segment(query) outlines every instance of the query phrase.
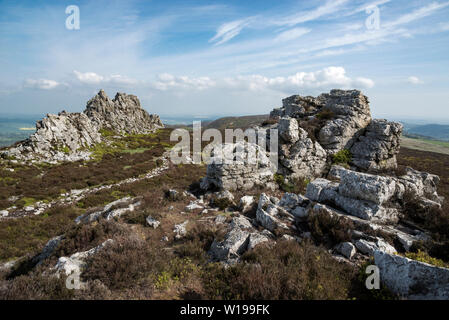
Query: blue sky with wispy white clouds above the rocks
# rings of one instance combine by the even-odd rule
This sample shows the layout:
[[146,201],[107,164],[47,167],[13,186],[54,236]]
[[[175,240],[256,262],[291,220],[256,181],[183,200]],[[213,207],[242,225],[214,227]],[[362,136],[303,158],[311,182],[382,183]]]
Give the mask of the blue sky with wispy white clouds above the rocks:
[[0,1],[0,113],[103,88],[161,115],[262,114],[357,88],[376,117],[449,123],[448,53],[447,0]]

